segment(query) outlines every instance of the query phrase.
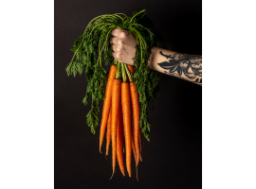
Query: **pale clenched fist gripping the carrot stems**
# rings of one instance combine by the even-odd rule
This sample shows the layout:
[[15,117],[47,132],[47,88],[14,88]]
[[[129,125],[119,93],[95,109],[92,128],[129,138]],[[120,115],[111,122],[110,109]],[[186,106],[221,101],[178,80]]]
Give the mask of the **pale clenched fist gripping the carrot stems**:
[[133,58],[136,56],[137,39],[135,34],[131,31],[123,29],[113,29],[112,35],[114,36],[110,43],[112,43],[112,53],[115,60],[121,63],[134,64]]

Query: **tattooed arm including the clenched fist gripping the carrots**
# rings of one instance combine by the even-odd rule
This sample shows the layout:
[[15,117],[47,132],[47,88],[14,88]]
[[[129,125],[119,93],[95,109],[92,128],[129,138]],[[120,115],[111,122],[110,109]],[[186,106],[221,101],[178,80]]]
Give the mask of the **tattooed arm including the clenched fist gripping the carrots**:
[[[119,62],[133,65],[137,44],[135,35],[119,28],[113,29],[112,35],[113,57]],[[158,72],[203,85],[202,55],[182,54],[154,46],[148,63],[151,69]]]

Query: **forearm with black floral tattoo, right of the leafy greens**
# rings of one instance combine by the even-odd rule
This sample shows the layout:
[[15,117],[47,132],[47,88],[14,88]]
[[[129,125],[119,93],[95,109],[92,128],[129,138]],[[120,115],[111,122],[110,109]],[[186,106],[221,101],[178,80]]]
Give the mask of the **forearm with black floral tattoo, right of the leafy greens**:
[[157,72],[203,85],[202,55],[177,53],[154,46],[148,64]]

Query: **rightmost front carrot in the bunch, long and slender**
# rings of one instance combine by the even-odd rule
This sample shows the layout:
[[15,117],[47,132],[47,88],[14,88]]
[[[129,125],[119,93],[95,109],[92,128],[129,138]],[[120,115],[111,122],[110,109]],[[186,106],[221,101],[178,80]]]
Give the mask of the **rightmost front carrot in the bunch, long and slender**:
[[136,91],[136,86],[134,82],[130,82],[131,88],[131,99],[132,99],[132,107],[133,107],[133,118],[134,118],[134,142],[136,148],[136,166],[139,161],[139,102],[138,95]]

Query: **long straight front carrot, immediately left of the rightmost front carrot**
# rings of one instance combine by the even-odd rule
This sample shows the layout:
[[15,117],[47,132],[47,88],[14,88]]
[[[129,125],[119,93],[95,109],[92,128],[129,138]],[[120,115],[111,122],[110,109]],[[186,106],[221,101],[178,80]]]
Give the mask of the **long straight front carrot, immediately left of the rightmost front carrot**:
[[123,126],[125,133],[126,168],[131,177],[132,174],[132,130],[131,130],[131,94],[128,82],[121,83],[121,106],[123,112]]

